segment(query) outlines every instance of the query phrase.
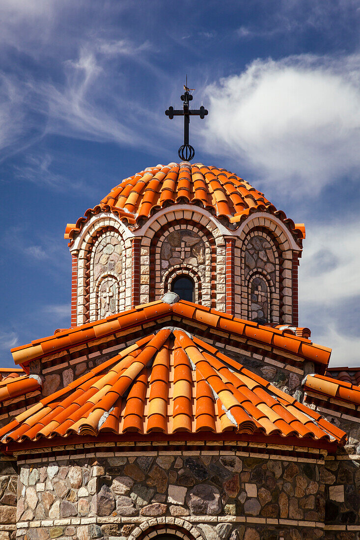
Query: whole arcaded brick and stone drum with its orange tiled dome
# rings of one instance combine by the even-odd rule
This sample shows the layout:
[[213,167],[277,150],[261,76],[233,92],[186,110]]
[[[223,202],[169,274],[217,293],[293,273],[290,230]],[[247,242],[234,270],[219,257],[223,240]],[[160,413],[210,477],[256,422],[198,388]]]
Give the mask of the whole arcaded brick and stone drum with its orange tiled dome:
[[65,237],[72,326],[158,300],[179,276],[196,303],[266,324],[297,324],[301,225],[229,171],[149,167],[122,181]]

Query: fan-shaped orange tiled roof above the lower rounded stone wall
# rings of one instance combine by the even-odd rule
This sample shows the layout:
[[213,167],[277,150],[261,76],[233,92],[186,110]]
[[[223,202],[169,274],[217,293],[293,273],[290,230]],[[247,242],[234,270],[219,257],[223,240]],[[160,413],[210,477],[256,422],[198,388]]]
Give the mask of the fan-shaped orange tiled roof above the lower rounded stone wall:
[[[163,327],[44,397],[0,430],[3,444],[52,437],[222,434],[344,443],[294,397],[184,330]],[[286,440],[284,441],[286,444]]]

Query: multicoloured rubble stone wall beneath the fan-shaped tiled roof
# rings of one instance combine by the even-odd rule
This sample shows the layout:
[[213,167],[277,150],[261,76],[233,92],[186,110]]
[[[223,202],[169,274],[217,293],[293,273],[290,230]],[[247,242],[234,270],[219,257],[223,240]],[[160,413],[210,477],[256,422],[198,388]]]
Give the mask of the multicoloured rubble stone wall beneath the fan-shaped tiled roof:
[[357,538],[358,461],[279,447],[108,450],[20,460],[17,538],[132,540],[158,524],[204,540]]

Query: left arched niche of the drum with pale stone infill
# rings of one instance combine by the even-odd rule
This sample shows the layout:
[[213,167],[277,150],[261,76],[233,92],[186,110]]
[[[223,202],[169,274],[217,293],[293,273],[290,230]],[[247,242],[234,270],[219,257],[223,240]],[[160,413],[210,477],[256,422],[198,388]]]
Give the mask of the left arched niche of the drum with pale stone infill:
[[[75,276],[73,266],[72,282],[77,284],[74,323],[72,319],[74,326],[101,318],[99,313],[102,310],[98,307],[97,295],[103,292],[100,283],[103,284],[106,275],[111,275],[112,279],[118,282],[118,308],[131,307],[131,281],[124,278],[129,265],[131,271],[130,239],[124,239],[123,231],[115,219],[99,219],[82,239],[77,255],[77,275]],[[110,284],[108,286],[110,287]],[[111,291],[108,291],[108,298],[111,298]],[[74,290],[72,302],[74,302]],[[114,302],[111,305],[114,305]]]

